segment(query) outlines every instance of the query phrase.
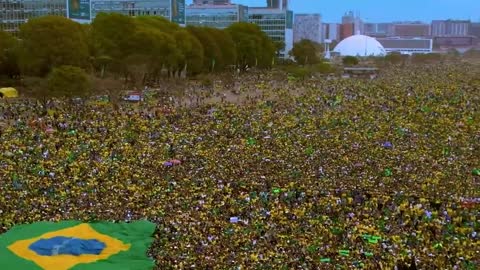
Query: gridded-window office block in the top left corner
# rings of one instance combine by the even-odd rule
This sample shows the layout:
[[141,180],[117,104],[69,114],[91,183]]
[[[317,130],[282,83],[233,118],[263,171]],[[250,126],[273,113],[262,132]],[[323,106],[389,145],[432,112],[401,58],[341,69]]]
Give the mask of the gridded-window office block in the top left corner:
[[16,33],[27,20],[46,16],[67,16],[65,0],[0,0],[0,30]]

